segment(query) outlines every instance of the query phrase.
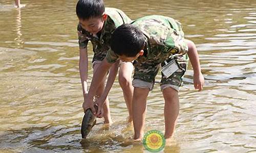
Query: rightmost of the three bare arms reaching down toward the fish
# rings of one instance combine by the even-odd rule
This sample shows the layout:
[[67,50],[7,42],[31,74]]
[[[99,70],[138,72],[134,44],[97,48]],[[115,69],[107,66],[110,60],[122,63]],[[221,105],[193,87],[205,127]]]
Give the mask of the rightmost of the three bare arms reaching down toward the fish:
[[96,104],[98,104],[98,111],[97,111],[96,116],[100,116],[100,114],[103,113],[101,111],[101,109],[102,109],[102,106],[104,104],[104,101],[105,101],[106,97],[108,96],[108,94],[110,92],[110,89],[111,89],[112,85],[115,82],[116,75],[117,75],[117,72],[118,72],[118,68],[119,68],[119,60],[116,61],[114,63],[114,65],[111,66],[108,81],[106,82],[104,92],[96,101]]

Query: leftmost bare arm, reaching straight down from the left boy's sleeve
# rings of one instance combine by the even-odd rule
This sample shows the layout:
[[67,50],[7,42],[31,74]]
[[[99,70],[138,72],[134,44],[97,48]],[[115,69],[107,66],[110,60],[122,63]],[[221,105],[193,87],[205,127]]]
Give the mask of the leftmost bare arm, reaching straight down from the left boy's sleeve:
[[88,53],[87,47],[79,49],[79,73],[82,84],[83,98],[86,97],[87,93],[87,79],[88,79]]

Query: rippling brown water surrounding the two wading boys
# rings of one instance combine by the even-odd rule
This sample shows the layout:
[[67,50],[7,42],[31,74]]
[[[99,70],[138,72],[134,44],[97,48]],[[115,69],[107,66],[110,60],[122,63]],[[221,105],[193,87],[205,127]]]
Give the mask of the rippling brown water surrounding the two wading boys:
[[[145,3],[146,2],[146,3]],[[114,124],[81,141],[75,1],[0,2],[0,152],[147,152],[130,142],[119,84],[109,95]],[[132,19],[161,14],[183,23],[198,47],[205,87],[191,66],[180,91],[174,142],[164,152],[256,152],[256,1],[105,1]],[[90,58],[92,47],[89,46]],[[90,68],[90,76],[92,77]],[[158,75],[158,80],[160,79]],[[148,96],[145,131],[164,131],[163,98]],[[101,123],[102,120],[99,121]]]

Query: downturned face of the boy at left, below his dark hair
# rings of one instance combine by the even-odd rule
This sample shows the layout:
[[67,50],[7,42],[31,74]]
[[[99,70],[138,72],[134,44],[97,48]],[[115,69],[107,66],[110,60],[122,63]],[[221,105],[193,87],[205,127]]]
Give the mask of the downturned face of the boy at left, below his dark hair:
[[79,19],[79,22],[83,29],[95,35],[101,31],[107,17],[108,16],[106,14],[103,14],[101,17],[93,17],[86,20]]

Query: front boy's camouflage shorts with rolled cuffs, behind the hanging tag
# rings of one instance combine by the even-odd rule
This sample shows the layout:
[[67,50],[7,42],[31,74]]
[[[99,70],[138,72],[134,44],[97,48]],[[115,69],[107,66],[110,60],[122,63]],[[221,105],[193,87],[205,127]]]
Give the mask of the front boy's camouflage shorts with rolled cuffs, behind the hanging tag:
[[[185,58],[186,58],[185,61],[179,61],[179,59],[172,59],[178,63],[179,69],[175,71],[172,75],[170,75],[170,77],[165,78],[164,75],[161,73],[162,75],[161,82],[160,82],[161,90],[167,87],[171,87],[179,91],[179,88],[183,84],[183,77],[187,69],[187,63],[188,63],[187,55]],[[161,67],[161,64],[152,64],[150,62],[135,64],[133,86],[140,87],[140,88],[149,88],[150,90],[152,90],[153,85],[155,83],[155,77],[160,67]],[[139,82],[138,80],[141,80],[141,82]],[[147,84],[147,83],[151,83],[151,84]]]

